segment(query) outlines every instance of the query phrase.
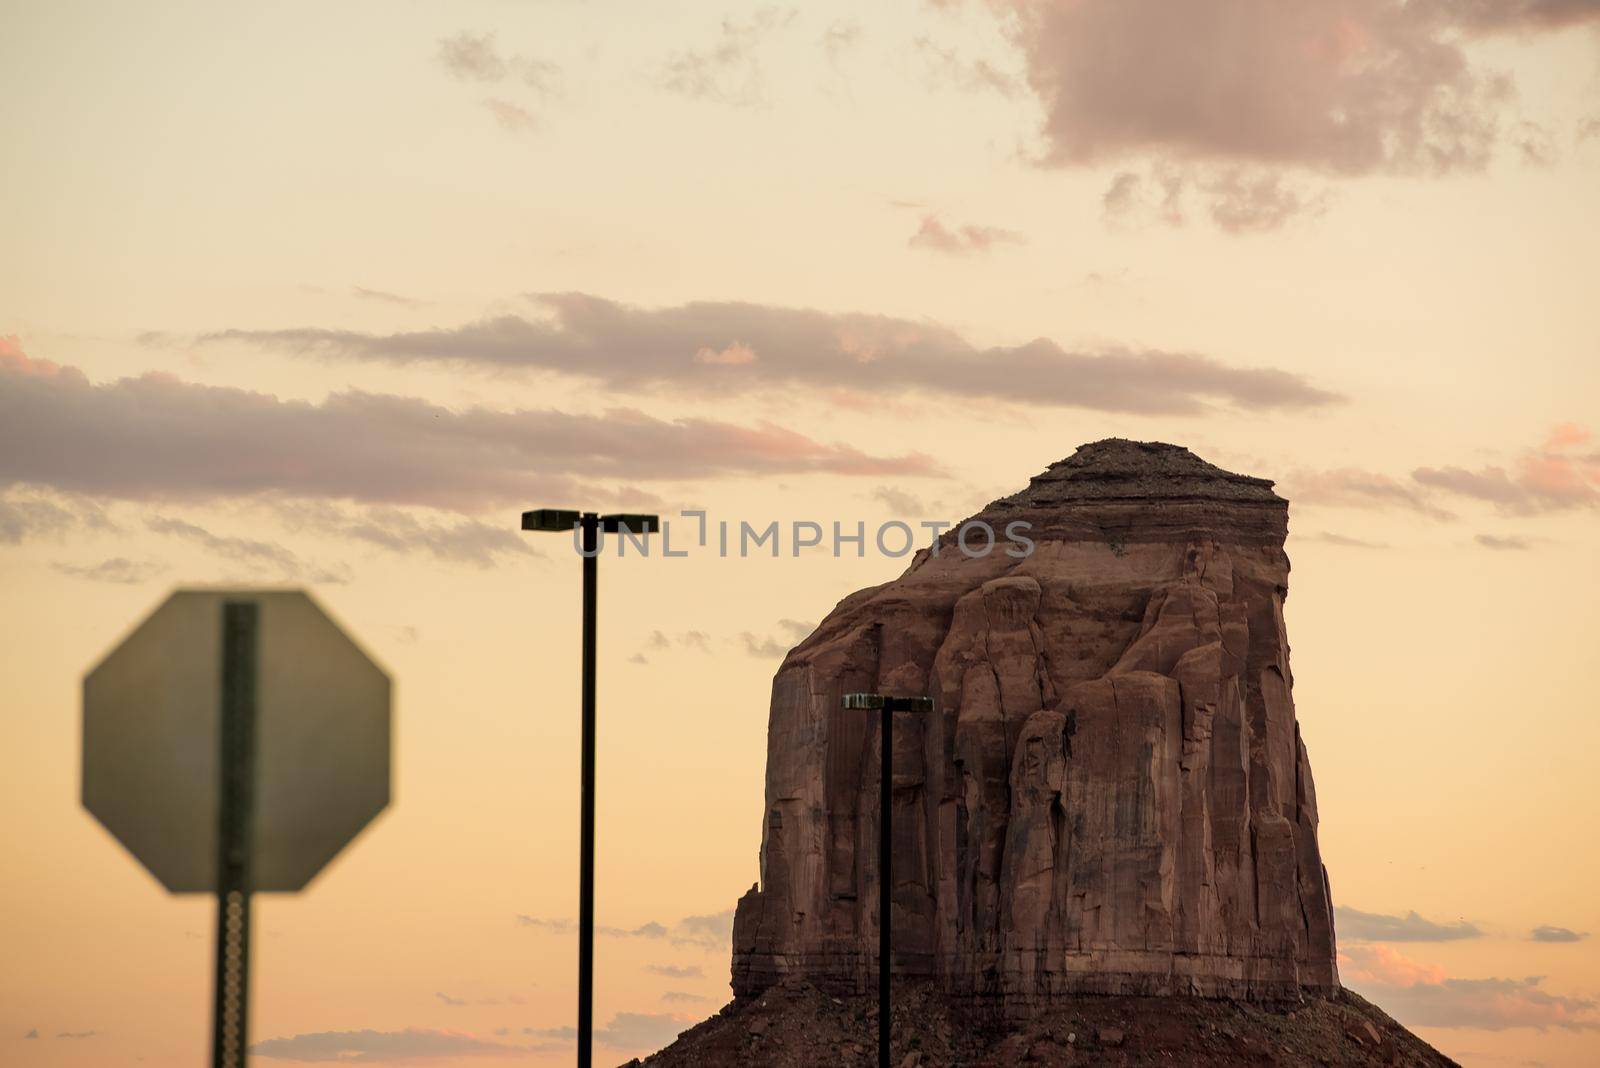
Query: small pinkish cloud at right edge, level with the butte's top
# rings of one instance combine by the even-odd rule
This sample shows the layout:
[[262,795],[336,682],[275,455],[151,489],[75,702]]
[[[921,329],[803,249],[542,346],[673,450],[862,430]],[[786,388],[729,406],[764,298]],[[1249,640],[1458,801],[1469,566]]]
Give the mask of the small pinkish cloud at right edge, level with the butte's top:
[[1560,424],[1510,467],[1419,467],[1411,478],[1443,492],[1485,500],[1509,515],[1594,508],[1600,505],[1600,452],[1584,451],[1589,441],[1584,427]]

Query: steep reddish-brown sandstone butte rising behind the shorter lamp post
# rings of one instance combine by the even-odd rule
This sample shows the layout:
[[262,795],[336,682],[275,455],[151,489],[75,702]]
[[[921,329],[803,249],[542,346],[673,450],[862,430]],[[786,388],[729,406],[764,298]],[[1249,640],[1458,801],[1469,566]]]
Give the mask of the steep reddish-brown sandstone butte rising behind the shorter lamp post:
[[1112,438],[974,518],[1030,523],[1035,550],[971,558],[947,532],[778,670],[734,993],[875,982],[878,727],[840,710],[854,691],[936,700],[894,723],[898,975],[1008,1015],[1338,990],[1290,695],[1288,502]]

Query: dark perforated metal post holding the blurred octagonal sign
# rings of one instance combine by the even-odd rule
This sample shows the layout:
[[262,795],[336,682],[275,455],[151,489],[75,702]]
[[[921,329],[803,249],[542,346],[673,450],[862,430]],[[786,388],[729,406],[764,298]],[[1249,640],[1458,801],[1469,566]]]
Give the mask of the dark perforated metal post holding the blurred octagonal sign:
[[256,785],[258,622],[259,609],[253,601],[222,604],[213,1068],[243,1068],[250,1042],[250,830]]

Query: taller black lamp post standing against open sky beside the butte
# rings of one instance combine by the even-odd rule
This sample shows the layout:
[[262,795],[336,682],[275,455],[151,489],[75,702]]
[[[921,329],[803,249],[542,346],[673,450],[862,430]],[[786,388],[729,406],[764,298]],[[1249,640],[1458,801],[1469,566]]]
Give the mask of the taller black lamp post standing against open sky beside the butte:
[[[595,590],[598,584],[600,532],[654,534],[661,520],[653,515],[598,515],[565,508],[536,508],[522,513],[522,529],[541,532],[578,531],[584,558],[584,667],[582,742],[579,756],[578,831],[578,1068],[594,1060],[595,1014]],[[576,540],[576,539],[574,539]]]

